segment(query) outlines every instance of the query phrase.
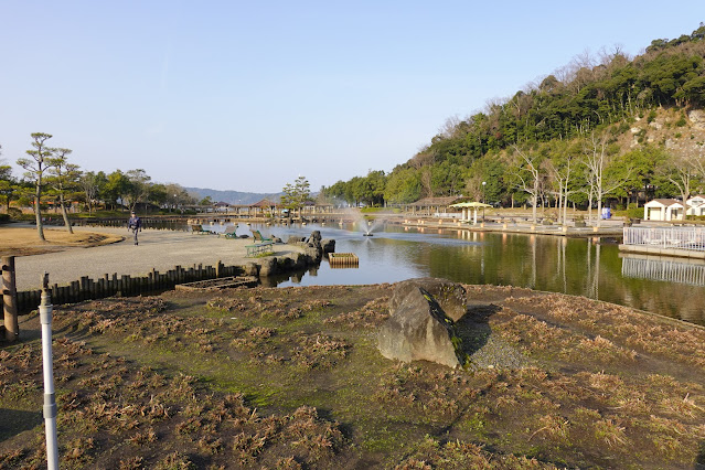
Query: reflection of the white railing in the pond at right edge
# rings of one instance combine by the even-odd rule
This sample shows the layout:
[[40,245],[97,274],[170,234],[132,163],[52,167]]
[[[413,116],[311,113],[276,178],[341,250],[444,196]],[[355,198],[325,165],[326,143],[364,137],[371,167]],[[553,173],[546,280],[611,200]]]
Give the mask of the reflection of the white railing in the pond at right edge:
[[622,258],[622,276],[705,286],[705,265],[654,258]]

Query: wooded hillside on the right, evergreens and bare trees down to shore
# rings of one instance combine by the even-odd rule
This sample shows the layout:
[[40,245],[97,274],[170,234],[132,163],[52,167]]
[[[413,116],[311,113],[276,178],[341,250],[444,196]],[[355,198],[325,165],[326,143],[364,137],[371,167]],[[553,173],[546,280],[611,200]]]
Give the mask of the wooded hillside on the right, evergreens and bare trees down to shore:
[[[606,197],[628,205],[640,191],[683,196],[702,190],[703,142],[681,133],[687,133],[685,110],[705,107],[704,39],[701,23],[692,34],[652,41],[634,58],[619,49],[578,56],[511,98],[448,119],[428,146],[388,174],[371,170],[324,186],[322,194],[368,205],[462,194],[502,205],[557,205],[560,197],[564,207],[567,197],[591,207]],[[620,150],[620,136],[634,122],[651,122],[666,108],[680,110],[672,125],[684,143],[667,147],[638,135],[638,148]],[[592,164],[595,142],[602,142],[600,168]],[[590,181],[607,177],[620,181],[596,193]]]

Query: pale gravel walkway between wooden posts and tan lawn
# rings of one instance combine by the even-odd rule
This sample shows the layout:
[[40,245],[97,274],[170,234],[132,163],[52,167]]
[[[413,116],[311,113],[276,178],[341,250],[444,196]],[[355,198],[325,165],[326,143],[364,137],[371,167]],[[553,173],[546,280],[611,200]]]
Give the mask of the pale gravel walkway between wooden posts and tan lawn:
[[[114,233],[125,241],[93,248],[67,248],[44,255],[19,256],[14,259],[18,290],[41,288],[42,275],[49,273],[51,285],[60,286],[88,276],[93,279],[104,274],[146,275],[152,268],[160,273],[174,266],[190,267],[202,264],[239,266],[252,261],[246,257],[246,245],[253,239],[227,239],[215,235],[193,235],[189,232],[143,229],[139,245],[135,246],[131,233],[126,228],[74,227],[74,231]],[[275,256],[298,250],[291,245],[275,245]]]

